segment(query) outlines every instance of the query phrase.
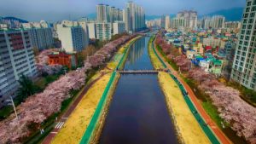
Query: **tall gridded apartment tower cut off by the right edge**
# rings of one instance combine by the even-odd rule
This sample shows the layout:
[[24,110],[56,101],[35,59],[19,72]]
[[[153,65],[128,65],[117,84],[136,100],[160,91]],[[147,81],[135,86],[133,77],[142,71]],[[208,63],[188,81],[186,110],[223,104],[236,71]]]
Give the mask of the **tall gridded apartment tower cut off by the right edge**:
[[243,10],[231,79],[256,90],[256,0],[247,0]]

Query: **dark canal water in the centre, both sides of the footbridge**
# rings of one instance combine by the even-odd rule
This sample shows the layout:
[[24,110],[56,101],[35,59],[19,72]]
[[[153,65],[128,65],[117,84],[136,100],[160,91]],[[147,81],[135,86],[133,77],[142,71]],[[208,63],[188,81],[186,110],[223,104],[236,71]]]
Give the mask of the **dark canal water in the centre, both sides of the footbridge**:
[[[153,69],[149,37],[131,45],[125,70]],[[101,144],[176,144],[177,135],[157,75],[125,74],[113,94]]]

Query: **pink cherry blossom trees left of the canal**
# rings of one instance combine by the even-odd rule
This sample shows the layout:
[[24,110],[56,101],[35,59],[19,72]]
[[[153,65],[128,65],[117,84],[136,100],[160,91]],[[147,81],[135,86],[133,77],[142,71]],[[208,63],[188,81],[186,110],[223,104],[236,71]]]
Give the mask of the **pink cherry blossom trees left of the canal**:
[[[49,116],[61,111],[62,101],[73,96],[70,95],[71,90],[82,88],[86,78],[85,72],[90,71],[93,67],[103,65],[120,45],[135,36],[123,36],[107,43],[94,55],[84,60],[83,67],[61,76],[61,78],[49,84],[42,93],[28,97],[25,102],[17,107],[18,120],[12,114],[9,118],[0,122],[0,143],[20,143],[23,138],[31,135],[34,132],[33,130],[38,130],[41,123]],[[47,66],[47,55],[51,52],[46,50],[38,55],[37,66],[39,71],[53,73],[60,68],[58,65]]]

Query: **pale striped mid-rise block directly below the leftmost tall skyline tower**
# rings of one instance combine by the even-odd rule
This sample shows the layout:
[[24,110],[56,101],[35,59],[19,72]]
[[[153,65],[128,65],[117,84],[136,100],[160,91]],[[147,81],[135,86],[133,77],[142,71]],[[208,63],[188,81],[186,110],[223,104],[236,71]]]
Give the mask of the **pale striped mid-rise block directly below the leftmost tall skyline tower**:
[[110,40],[112,37],[111,23],[96,23],[96,38],[99,40]]

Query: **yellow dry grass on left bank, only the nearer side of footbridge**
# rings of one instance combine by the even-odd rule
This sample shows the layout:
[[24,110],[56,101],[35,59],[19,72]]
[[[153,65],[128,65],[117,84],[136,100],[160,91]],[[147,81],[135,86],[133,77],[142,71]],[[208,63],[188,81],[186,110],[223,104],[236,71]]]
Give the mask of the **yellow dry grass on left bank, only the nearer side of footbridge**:
[[108,84],[110,76],[111,73],[106,74],[96,84],[91,86],[59,133],[55,135],[52,141],[53,144],[79,143],[90,123],[90,119],[96,110],[96,106],[102,96],[103,90]]

